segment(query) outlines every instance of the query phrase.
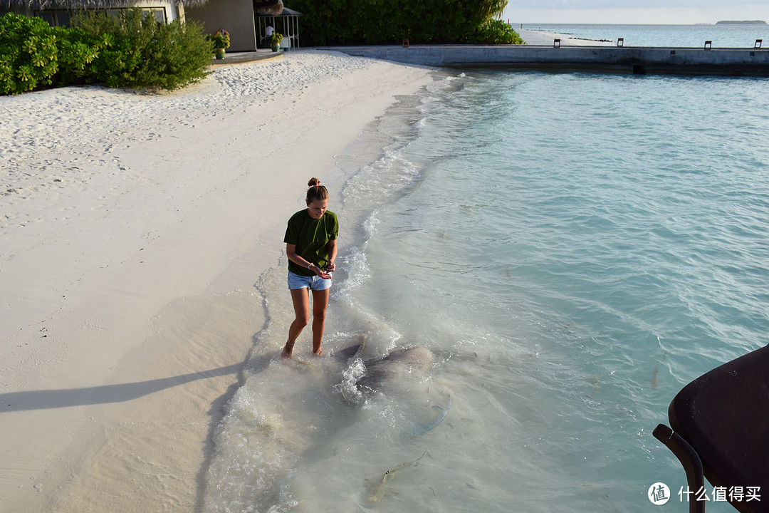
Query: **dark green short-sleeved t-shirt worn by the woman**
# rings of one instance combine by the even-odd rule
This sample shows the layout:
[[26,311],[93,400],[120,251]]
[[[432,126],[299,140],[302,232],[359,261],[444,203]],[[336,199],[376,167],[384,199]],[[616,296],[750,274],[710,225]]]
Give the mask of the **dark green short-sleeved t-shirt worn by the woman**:
[[[328,264],[328,241],[335,241],[338,235],[339,220],[334,212],[327,210],[320,219],[314,219],[305,208],[288,220],[283,242],[295,245],[301,258],[322,269]],[[315,272],[291,260],[288,270],[301,276],[315,276]]]

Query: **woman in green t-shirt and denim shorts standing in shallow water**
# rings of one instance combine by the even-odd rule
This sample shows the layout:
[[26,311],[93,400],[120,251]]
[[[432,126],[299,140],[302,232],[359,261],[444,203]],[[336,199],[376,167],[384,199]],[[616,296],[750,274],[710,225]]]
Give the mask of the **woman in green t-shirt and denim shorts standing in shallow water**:
[[321,355],[328,289],[331,272],[336,268],[339,221],[334,212],[327,210],[328,190],[320,183],[318,178],[308,182],[307,208],[291,216],[283,239],[288,256],[288,289],[296,317],[288,328],[283,358],[291,358],[296,338],[310,321],[309,291],[312,291],[312,352]]

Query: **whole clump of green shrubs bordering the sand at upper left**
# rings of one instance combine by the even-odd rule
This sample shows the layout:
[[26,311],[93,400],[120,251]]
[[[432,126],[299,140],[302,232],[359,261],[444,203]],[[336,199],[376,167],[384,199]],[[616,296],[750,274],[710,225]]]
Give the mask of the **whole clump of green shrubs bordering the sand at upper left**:
[[198,23],[158,23],[139,8],[118,18],[87,13],[72,28],[0,17],[0,93],[70,84],[175,89],[208,75],[211,43]]

